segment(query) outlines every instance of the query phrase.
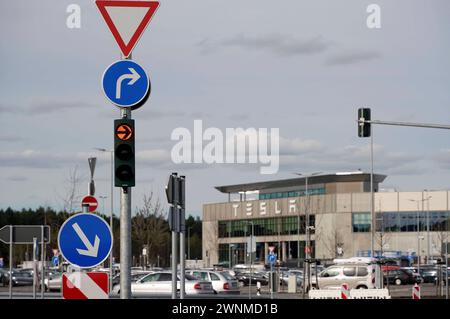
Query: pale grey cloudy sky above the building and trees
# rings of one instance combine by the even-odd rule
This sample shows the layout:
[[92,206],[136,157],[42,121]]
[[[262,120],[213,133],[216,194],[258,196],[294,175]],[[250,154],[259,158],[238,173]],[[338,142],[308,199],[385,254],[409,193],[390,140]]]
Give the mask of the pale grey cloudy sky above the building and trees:
[[[81,28],[66,8],[81,7]],[[381,29],[366,25],[381,7]],[[133,112],[133,206],[168,174],[187,176],[187,211],[225,201],[213,187],[290,178],[293,172],[368,170],[369,139],[357,108],[374,119],[450,124],[447,0],[162,0],[133,59],[147,70],[149,101]],[[0,3],[0,208],[62,207],[68,178],[87,192],[98,158],[97,196],[110,196],[112,123],[119,110],[100,81],[119,50],[93,0]],[[280,170],[172,163],[177,127],[279,128]],[[449,189],[449,131],[377,126],[375,171],[383,187]],[[118,192],[115,193],[118,198]],[[108,212],[109,198],[100,210]],[[118,201],[115,203],[118,212]]]

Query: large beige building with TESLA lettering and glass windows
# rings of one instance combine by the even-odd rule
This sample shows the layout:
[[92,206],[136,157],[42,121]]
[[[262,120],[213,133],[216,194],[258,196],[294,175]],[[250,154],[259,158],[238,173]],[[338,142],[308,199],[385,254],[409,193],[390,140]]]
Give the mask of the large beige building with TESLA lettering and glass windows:
[[370,174],[360,171],[218,186],[227,201],[203,205],[204,263],[249,263],[252,250],[252,262],[265,264],[270,249],[294,266],[306,250],[322,260],[370,256],[372,243],[374,255],[441,256],[450,191],[380,191],[385,178],[373,175],[374,229]]

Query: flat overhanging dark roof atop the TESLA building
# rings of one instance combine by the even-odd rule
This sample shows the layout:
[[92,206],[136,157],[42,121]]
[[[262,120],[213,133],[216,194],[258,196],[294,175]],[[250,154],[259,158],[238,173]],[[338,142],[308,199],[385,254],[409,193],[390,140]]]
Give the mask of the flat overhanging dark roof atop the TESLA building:
[[[386,177],[387,175],[373,174],[373,181],[374,183],[382,183]],[[256,183],[216,186],[215,188],[222,193],[239,193],[272,188],[303,186],[305,185],[305,179],[305,177],[297,177]],[[370,174],[364,172],[349,172],[308,177],[308,185],[337,182],[370,182]]]

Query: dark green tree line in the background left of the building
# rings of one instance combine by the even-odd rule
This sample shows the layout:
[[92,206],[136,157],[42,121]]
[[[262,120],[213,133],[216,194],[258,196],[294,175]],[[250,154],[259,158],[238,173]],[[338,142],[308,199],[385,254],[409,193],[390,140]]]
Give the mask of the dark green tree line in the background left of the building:
[[[168,267],[171,254],[171,233],[167,222],[167,209],[153,194],[144,196],[142,207],[135,209],[132,216],[132,256],[133,265]],[[12,208],[0,209],[0,228],[5,225],[49,225],[50,244],[46,245],[46,260],[53,256],[53,249],[58,249],[58,232],[61,225],[73,214],[66,211],[56,211],[51,207],[37,209],[14,210]],[[110,216],[99,214],[109,224]],[[187,238],[189,229],[190,238]],[[120,261],[120,221],[113,217],[113,257]],[[190,252],[191,259],[202,258],[202,223],[199,217],[189,216],[186,219],[186,254]],[[190,249],[188,248],[188,245]],[[146,248],[147,257],[142,256]],[[9,265],[9,245],[0,243],[0,258],[3,258],[5,267]],[[32,260],[32,245],[17,244],[13,248],[13,267],[23,261]]]

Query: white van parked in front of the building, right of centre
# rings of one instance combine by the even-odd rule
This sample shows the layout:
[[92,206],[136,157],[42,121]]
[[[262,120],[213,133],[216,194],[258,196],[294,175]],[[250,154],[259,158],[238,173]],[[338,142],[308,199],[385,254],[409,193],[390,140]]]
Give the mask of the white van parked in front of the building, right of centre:
[[337,264],[311,277],[311,285],[318,289],[340,289],[343,283],[349,289],[375,288],[375,265],[365,263]]

